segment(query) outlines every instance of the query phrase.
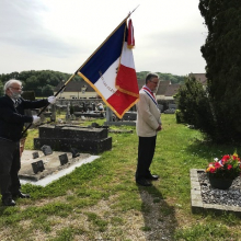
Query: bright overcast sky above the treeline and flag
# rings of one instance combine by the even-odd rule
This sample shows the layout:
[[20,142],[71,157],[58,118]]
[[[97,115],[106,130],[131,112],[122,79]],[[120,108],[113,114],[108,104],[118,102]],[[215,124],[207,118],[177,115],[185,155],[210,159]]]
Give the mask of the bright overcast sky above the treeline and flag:
[[136,71],[205,72],[199,0],[0,0],[0,73],[73,73],[131,12]]

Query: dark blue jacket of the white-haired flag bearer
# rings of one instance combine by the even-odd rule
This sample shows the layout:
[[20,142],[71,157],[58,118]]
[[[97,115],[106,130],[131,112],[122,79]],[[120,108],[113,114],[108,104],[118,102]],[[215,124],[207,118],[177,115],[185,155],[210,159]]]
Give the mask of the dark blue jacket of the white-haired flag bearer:
[[41,108],[48,104],[47,100],[26,101],[18,99],[15,106],[8,95],[0,97],[0,138],[19,141],[23,131],[24,123],[32,123],[33,117],[24,115],[26,108]]

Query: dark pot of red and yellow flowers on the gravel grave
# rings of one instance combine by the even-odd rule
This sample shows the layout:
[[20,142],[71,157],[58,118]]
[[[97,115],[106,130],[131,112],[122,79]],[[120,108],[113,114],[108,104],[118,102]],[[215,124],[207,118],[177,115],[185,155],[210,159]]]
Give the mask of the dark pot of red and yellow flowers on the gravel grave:
[[241,162],[239,156],[225,154],[221,160],[214,159],[206,169],[210,185],[219,190],[228,190],[234,179],[241,174]]

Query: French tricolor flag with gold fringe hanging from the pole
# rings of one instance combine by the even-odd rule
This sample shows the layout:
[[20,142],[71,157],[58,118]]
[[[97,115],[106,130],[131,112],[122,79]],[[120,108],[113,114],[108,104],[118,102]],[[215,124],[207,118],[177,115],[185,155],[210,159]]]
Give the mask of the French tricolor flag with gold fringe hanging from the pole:
[[139,100],[133,50],[127,47],[133,33],[125,19],[77,71],[118,118]]

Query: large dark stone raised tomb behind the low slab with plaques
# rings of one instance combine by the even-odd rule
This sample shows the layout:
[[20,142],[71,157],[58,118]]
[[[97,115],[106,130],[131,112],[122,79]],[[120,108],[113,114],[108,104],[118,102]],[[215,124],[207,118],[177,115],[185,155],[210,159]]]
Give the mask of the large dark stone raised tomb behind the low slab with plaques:
[[76,148],[93,154],[112,149],[112,137],[107,136],[107,128],[43,125],[38,130],[38,138],[34,138],[36,150],[43,145],[51,146],[55,151],[70,151]]

